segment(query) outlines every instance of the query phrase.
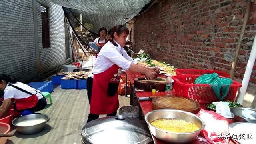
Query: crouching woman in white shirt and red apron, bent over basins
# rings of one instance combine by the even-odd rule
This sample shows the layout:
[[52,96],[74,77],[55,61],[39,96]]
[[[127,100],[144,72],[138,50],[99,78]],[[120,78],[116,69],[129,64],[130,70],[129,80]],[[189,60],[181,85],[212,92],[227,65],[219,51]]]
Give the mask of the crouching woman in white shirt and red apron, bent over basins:
[[[37,112],[45,108],[46,99],[39,90],[18,82],[13,76],[0,74],[0,90],[4,90],[4,102],[0,107],[0,116],[14,104],[14,110]],[[13,103],[15,102],[15,103]]]

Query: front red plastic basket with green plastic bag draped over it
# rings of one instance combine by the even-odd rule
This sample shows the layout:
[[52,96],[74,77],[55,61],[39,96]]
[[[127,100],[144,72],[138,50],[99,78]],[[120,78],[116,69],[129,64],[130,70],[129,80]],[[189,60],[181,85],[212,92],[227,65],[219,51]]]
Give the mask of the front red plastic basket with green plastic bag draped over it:
[[[200,104],[218,101],[217,96],[209,84],[194,84],[196,78],[198,76],[172,76],[176,95],[190,98]],[[224,100],[234,101],[236,92],[241,86],[242,84],[233,80],[233,84],[230,85],[228,94]]]

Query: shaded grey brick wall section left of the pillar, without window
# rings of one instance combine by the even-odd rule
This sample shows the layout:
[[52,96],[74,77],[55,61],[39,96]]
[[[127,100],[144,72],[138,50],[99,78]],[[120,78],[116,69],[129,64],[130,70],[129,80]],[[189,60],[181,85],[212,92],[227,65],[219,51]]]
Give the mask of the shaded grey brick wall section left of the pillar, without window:
[[0,0],[0,73],[35,77],[32,0]]

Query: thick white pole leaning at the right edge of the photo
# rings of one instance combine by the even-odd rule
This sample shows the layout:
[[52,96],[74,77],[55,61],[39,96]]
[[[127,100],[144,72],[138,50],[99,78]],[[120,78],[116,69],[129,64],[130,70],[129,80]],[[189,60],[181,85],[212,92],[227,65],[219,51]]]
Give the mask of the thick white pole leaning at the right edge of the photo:
[[245,70],[245,73],[244,73],[244,78],[243,78],[243,81],[242,81],[242,88],[240,88],[240,91],[238,92],[237,103],[239,103],[239,104],[243,104],[243,102],[244,102],[244,96],[246,94],[246,90],[247,90],[247,87],[248,87],[250,76],[252,74],[252,69],[253,69],[255,59],[256,59],[256,35],[254,36],[254,41],[253,41],[253,44],[252,44],[252,50],[251,50],[250,57],[249,57],[249,60],[247,62],[246,70]]

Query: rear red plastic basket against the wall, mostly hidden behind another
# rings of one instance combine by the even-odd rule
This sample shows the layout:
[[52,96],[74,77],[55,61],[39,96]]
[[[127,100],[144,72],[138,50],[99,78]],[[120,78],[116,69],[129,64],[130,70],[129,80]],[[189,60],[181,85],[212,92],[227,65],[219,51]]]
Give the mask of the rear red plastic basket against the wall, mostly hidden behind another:
[[193,69],[175,69],[175,72],[177,73],[177,76],[186,76],[186,75],[203,75],[203,74],[212,74],[212,73],[217,73],[219,76],[223,76],[226,78],[229,78],[230,75],[221,72],[218,70],[193,70]]

